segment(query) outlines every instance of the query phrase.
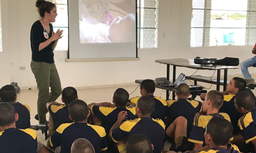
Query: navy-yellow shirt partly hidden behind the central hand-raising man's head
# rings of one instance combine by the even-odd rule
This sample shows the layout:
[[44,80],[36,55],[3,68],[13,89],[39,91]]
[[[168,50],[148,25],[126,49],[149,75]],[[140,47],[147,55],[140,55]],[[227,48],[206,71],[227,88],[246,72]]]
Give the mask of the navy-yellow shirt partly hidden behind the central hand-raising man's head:
[[[166,101],[162,98],[155,97],[153,95],[150,95],[148,97],[153,98],[155,101],[155,109],[154,109],[153,113],[151,114],[151,117],[154,119],[159,118],[164,122],[165,117],[167,116],[167,109],[168,109]],[[139,98],[140,97],[131,98],[129,100],[129,102],[136,104]]]

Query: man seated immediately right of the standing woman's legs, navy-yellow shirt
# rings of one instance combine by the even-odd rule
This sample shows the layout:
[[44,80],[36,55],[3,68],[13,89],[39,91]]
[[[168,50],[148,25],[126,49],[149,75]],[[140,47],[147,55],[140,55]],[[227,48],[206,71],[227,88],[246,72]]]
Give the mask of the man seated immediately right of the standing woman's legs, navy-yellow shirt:
[[61,101],[64,104],[57,102],[48,102],[46,104],[46,108],[49,111],[49,137],[61,124],[73,122],[73,120],[69,118],[68,107],[73,100],[78,99],[77,91],[73,87],[66,87],[62,90],[61,96]]

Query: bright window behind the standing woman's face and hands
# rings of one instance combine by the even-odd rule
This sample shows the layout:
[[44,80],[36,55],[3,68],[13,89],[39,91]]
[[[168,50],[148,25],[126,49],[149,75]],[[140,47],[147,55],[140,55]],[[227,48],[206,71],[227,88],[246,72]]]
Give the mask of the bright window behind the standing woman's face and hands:
[[68,50],[68,0],[53,0],[57,6],[58,16],[53,22],[53,30],[63,30],[63,37],[59,39],[55,50]]

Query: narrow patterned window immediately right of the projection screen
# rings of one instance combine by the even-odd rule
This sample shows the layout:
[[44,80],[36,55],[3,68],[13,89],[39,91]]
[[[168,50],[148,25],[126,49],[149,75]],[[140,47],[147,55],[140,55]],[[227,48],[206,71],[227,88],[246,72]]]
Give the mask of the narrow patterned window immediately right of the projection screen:
[[157,48],[159,0],[137,0],[138,48]]

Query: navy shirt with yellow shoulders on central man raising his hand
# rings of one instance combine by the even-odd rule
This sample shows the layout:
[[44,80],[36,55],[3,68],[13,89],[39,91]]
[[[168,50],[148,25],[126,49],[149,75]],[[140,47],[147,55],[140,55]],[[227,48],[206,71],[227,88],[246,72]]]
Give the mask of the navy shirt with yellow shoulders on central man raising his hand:
[[165,136],[165,124],[160,119],[141,117],[135,120],[123,122],[119,128],[113,130],[111,136],[115,142],[120,141],[124,136],[128,139],[133,134],[147,136],[154,145],[154,153],[161,153],[162,142]]

